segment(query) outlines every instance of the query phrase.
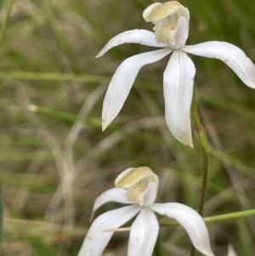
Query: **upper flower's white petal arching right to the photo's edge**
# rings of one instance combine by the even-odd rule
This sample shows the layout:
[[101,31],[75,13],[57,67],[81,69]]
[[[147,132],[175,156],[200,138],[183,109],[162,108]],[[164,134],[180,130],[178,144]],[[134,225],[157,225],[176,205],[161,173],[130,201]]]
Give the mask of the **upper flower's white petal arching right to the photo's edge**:
[[186,45],[185,52],[224,61],[246,86],[255,88],[255,66],[241,48],[226,42],[206,42]]

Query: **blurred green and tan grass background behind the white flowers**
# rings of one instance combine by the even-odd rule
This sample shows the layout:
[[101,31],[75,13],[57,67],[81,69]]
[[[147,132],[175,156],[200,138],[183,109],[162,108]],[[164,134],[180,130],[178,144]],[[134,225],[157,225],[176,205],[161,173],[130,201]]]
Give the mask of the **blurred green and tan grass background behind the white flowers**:
[[[196,135],[194,149],[181,145],[164,119],[162,73],[169,57],[139,72],[120,115],[101,133],[102,102],[116,67],[152,48],[124,44],[94,57],[122,31],[151,31],[142,12],[153,2],[0,1],[1,255],[77,255],[94,199],[129,167],[146,165],[156,172],[157,202],[198,208]],[[255,1],[181,3],[191,15],[187,44],[227,41],[255,62]],[[219,60],[190,57],[211,152],[205,216],[255,208],[255,91]],[[108,203],[97,214],[116,207]],[[216,255],[227,255],[229,243],[238,255],[255,254],[254,216],[207,227]],[[160,238],[162,255],[189,254],[191,243],[181,227],[162,227]],[[113,236],[107,255],[126,255],[127,239],[128,233]]]

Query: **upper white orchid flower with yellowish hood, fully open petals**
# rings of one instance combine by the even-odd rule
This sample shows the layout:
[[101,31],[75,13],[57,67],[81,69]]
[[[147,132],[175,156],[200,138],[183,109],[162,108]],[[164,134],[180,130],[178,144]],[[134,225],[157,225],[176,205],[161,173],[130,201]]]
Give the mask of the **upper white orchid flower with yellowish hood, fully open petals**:
[[130,57],[117,68],[105,94],[102,130],[121,111],[140,68],[172,53],[163,77],[167,126],[176,139],[192,147],[190,105],[195,65],[187,53],[224,61],[251,88],[255,88],[255,67],[241,48],[230,43],[212,41],[185,46],[189,36],[190,12],[177,1],[153,3],[144,10],[143,16],[145,21],[154,23],[154,33],[146,30],[122,32],[97,55],[98,58],[122,43],[161,48]]

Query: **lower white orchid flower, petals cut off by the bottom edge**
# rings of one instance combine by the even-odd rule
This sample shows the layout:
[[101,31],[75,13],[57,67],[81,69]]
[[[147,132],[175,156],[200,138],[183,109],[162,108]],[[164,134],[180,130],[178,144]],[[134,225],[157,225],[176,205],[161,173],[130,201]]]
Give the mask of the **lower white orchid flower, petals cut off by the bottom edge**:
[[116,188],[105,191],[94,202],[93,214],[106,202],[131,203],[99,215],[88,230],[78,256],[100,256],[114,231],[139,215],[130,229],[127,256],[150,256],[156,243],[159,224],[156,213],[176,219],[190,236],[194,247],[213,256],[207,226],[194,209],[178,202],[155,203],[158,177],[148,167],[127,168],[115,181]]

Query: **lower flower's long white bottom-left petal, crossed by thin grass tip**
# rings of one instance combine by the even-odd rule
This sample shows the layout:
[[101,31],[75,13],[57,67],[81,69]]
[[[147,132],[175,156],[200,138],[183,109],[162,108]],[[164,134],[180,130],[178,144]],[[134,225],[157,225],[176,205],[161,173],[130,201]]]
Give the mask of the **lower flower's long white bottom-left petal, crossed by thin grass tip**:
[[100,215],[94,220],[88,230],[88,234],[82,243],[82,248],[78,256],[101,256],[113,235],[113,232],[101,231],[116,229],[124,225],[129,219],[132,219],[139,210],[139,206],[130,205]]

